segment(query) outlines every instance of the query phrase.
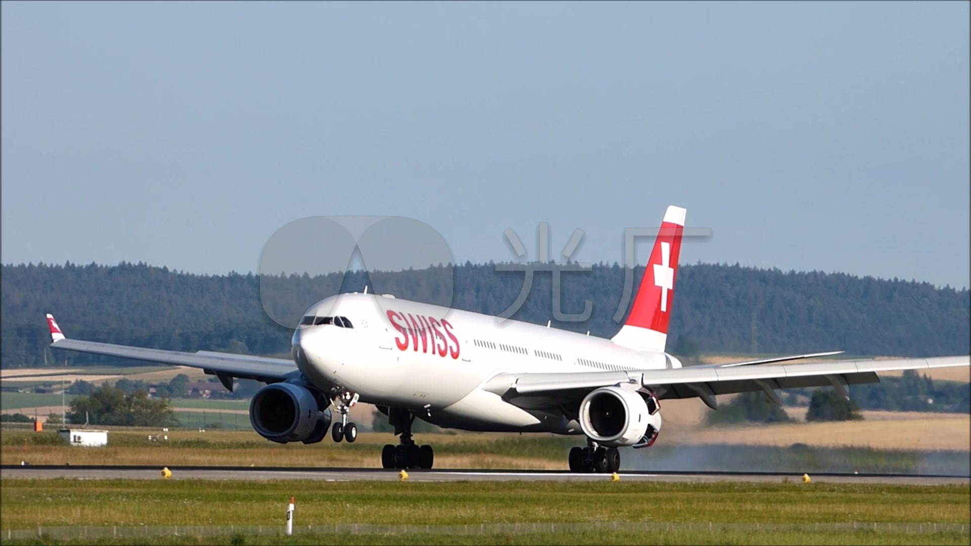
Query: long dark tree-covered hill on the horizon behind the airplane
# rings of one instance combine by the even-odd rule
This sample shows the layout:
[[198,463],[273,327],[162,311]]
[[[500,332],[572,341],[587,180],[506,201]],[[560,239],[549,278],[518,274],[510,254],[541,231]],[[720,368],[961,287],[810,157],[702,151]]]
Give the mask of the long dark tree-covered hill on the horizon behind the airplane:
[[[634,287],[644,268],[634,271]],[[514,319],[591,335],[612,336],[624,286],[624,268],[594,265],[562,274],[562,312],[582,323],[552,320],[551,274],[534,275],[532,290]],[[339,291],[393,293],[440,303],[452,281],[452,305],[499,314],[516,300],[522,272],[497,272],[489,264],[453,269],[349,272],[318,277],[264,278],[273,290],[273,313],[296,324],[322,297]],[[253,274],[194,275],[145,264],[3,265],[0,275],[0,363],[44,364],[45,313],[69,337],[179,351],[286,354],[292,330],[276,324],[260,303]],[[854,355],[933,357],[966,355],[971,338],[971,292],[927,283],[859,278],[841,273],[784,272],[727,264],[682,265],[676,280],[669,348],[702,352],[798,353],[844,350]],[[446,296],[448,290],[445,290]],[[264,293],[265,295],[265,293]],[[624,313],[629,310],[624,310]],[[63,364],[63,353],[58,363]],[[49,354],[50,357],[50,354]],[[118,362],[71,355],[72,364]],[[49,364],[53,364],[49,358]]]

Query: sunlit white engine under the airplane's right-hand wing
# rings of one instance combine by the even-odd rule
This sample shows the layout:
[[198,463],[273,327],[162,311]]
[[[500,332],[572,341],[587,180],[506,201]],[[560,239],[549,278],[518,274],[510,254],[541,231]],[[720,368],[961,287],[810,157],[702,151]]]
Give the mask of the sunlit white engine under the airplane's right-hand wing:
[[580,427],[607,447],[648,447],[661,429],[660,404],[650,392],[601,387],[580,403]]

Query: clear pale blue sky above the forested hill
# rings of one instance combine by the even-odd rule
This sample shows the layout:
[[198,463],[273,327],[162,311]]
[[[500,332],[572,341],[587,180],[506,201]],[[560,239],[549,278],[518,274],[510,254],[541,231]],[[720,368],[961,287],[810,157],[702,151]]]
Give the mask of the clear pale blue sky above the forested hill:
[[683,262],[967,287],[968,6],[4,2],[0,258],[255,271],[377,215],[613,262],[674,203]]

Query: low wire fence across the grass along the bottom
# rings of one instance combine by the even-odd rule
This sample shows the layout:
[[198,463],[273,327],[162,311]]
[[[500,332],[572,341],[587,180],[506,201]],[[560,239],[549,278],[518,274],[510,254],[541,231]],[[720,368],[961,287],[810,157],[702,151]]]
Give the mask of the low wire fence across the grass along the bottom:
[[[439,534],[439,535],[488,535],[534,534],[561,532],[672,532],[672,531],[842,531],[842,532],[904,532],[923,535],[937,532],[971,531],[968,524],[935,523],[817,523],[817,524],[733,524],[733,523],[660,523],[660,522],[589,522],[589,523],[519,523],[519,524],[468,524],[468,525],[380,525],[380,524],[325,524],[294,525],[293,534]],[[39,527],[37,529],[7,529],[0,535],[5,541],[33,539],[138,539],[166,536],[228,536],[284,534],[284,525],[275,526],[139,526],[139,527]]]

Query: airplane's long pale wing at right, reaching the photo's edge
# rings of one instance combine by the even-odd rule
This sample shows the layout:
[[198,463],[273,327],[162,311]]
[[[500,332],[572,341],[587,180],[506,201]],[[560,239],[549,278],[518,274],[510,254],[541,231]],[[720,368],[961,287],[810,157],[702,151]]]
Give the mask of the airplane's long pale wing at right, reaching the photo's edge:
[[967,366],[969,362],[969,357],[939,357],[728,367],[688,366],[636,371],[503,373],[490,379],[484,388],[519,407],[541,409],[579,403],[587,392],[600,387],[631,384],[650,389],[660,399],[696,396],[716,409],[717,394],[762,391],[773,402],[782,405],[776,392],[779,389],[832,386],[843,396],[849,397],[846,390],[848,385],[879,383],[878,371]]

